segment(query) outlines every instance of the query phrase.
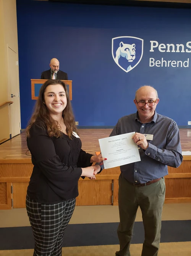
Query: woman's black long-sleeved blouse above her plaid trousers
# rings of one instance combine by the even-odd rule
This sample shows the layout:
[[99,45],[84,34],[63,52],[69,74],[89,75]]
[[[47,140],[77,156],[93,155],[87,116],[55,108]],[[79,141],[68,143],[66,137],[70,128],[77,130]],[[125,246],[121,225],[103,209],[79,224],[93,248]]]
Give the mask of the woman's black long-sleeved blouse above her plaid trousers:
[[81,149],[81,140],[63,134],[49,137],[33,125],[27,145],[34,165],[27,194],[39,203],[59,203],[78,196],[78,180],[83,167],[91,166],[91,154]]

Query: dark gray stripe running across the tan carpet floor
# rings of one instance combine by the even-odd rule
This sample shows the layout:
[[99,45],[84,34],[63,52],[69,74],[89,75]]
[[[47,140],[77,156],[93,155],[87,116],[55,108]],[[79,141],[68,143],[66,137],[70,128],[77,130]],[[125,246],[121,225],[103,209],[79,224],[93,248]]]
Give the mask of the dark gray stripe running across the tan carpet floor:
[[[63,246],[96,246],[118,244],[118,223],[70,224]],[[32,249],[31,227],[0,228],[0,250]],[[142,222],[135,222],[132,244],[143,243]],[[162,221],[161,243],[191,241],[191,220]]]

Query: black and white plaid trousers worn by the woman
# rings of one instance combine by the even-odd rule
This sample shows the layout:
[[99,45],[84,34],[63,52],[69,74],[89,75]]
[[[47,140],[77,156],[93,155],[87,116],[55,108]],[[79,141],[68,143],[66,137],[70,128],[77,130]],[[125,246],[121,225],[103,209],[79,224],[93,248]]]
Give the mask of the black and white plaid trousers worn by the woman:
[[34,235],[33,256],[62,256],[62,240],[76,198],[56,204],[37,203],[26,196],[26,210]]

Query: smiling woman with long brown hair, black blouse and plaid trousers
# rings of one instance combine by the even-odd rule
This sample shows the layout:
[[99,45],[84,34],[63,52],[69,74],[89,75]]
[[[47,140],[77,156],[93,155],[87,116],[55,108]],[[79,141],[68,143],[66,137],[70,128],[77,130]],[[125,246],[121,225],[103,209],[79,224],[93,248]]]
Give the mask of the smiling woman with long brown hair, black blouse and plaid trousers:
[[34,165],[26,197],[35,240],[33,255],[61,256],[78,180],[94,179],[100,165],[92,163],[104,159],[81,149],[68,90],[60,80],[47,80],[40,88],[26,135]]

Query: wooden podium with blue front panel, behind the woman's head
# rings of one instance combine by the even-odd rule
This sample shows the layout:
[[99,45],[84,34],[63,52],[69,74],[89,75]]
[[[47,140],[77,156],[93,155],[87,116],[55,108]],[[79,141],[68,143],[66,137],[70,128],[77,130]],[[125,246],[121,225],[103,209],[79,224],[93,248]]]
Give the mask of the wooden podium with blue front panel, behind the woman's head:
[[[31,79],[31,94],[32,99],[38,99],[40,87],[47,79]],[[66,88],[69,92],[70,100],[72,100],[72,80],[61,80],[66,84]]]

